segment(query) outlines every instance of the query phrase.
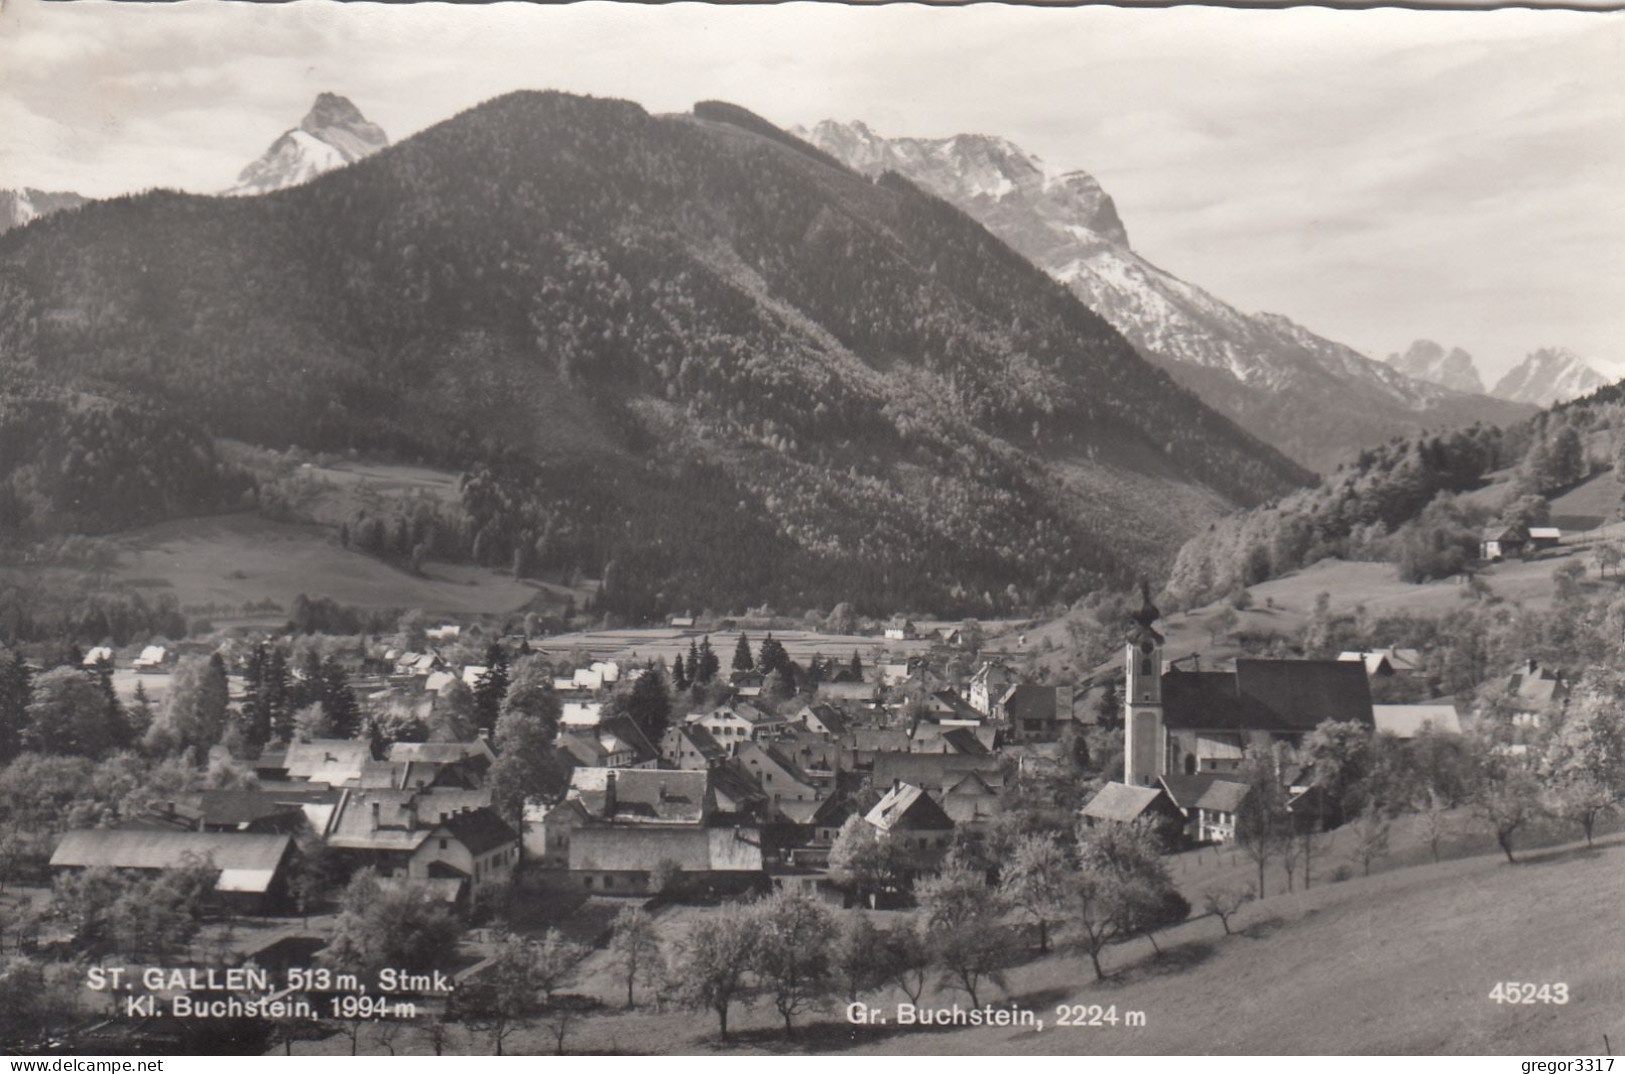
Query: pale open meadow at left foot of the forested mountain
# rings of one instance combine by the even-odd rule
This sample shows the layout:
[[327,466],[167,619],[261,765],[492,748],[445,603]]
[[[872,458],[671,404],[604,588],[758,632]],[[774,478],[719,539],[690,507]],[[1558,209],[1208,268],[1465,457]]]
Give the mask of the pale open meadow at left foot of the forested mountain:
[[[218,515],[164,522],[119,535],[119,564],[109,580],[169,591],[192,614],[216,626],[283,622],[299,593],[330,596],[358,608],[422,608],[442,614],[505,614],[564,590],[520,582],[481,567],[431,562],[424,575],[346,551],[332,530],[270,522],[258,515]],[[208,614],[276,601],[281,614]]]

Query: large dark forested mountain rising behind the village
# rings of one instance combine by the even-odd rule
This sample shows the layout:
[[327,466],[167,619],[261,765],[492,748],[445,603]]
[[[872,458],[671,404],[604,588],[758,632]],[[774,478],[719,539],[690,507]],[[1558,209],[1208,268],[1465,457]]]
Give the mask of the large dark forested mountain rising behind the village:
[[0,356],[462,468],[432,554],[634,616],[1071,598],[1306,479],[960,211],[731,106],[510,94],[304,187],[36,221]]

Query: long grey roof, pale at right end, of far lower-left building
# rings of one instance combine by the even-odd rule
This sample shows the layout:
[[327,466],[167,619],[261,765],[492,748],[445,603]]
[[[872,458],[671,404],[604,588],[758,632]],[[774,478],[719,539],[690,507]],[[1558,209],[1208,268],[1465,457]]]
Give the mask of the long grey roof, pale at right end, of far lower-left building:
[[[171,869],[187,855],[210,858],[231,887],[263,892],[292,847],[291,835],[247,832],[174,832],[146,829],[76,829],[63,834],[52,868]],[[216,881],[218,884],[218,881]]]

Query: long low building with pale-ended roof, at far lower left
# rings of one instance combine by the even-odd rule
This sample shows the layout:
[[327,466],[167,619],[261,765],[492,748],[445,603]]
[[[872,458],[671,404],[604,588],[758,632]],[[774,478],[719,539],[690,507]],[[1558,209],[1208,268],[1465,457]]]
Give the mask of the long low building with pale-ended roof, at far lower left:
[[291,835],[271,832],[174,832],[148,829],[75,829],[50,855],[57,873],[125,869],[158,874],[210,861],[219,873],[214,894],[245,913],[268,913],[286,905]]

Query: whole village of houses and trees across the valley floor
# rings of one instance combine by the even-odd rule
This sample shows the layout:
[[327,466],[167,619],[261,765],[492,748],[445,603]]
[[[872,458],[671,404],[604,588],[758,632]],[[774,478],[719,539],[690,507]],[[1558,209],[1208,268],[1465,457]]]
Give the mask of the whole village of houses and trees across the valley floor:
[[[1490,535],[1484,559],[1539,557],[1542,536]],[[455,1027],[500,1051],[551,1025],[562,1050],[621,1017],[618,994],[712,1011],[726,1043],[752,994],[786,1033],[843,990],[918,999],[938,973],[977,1003],[1051,934],[1103,978],[1136,938],[1160,957],[1159,933],[1228,934],[1384,860],[1514,861],[1614,830],[1622,734],[1588,700],[1612,687],[1547,647],[1440,695],[1445,639],[1173,655],[1188,613],[1144,587],[1112,608],[1115,655],[1071,676],[1037,624],[850,616],[526,635],[408,613],[362,639],[10,656],[18,744],[72,725],[88,786],[3,790],[13,967],[32,973],[6,991],[32,993],[55,1048],[393,1051]],[[762,952],[694,968],[749,915],[811,915],[778,952],[809,959],[795,983]],[[86,957],[158,986],[86,990]],[[200,986],[214,968],[263,986]],[[369,988],[405,999],[366,1006]],[[223,994],[254,1017],[177,1014]]]

